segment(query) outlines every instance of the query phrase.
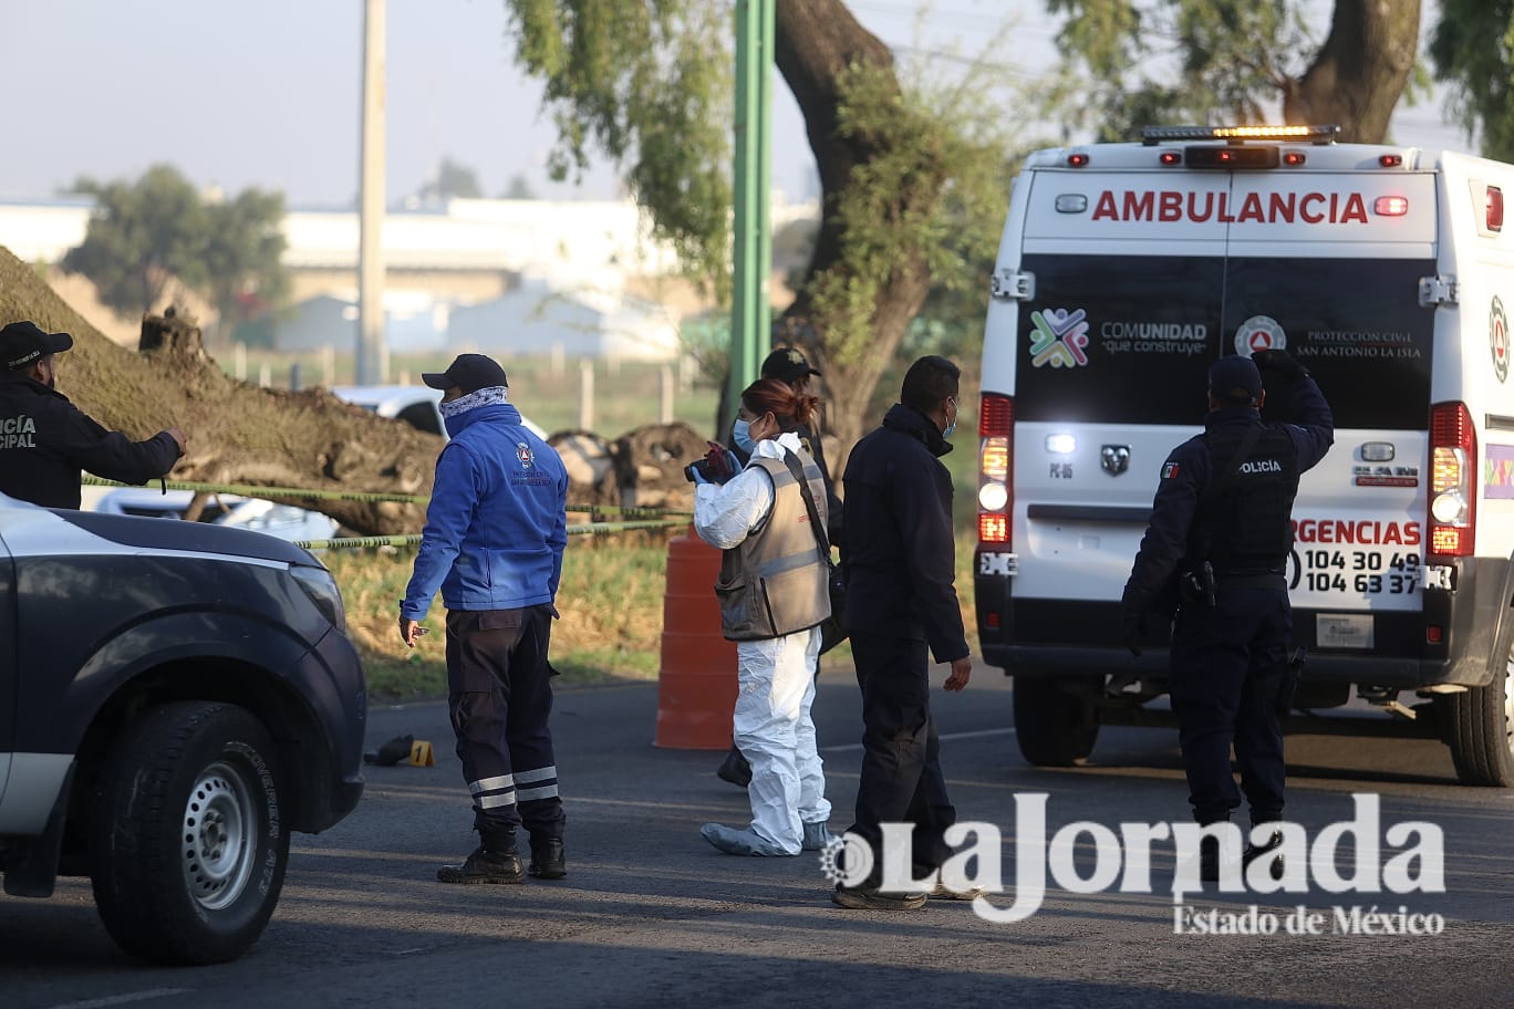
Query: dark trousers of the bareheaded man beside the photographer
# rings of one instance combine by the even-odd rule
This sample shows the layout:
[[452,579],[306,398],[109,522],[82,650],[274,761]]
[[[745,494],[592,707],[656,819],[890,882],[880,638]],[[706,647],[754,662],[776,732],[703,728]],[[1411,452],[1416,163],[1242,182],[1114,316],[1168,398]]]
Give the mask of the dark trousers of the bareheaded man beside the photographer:
[[957,821],[931,720],[930,657],[925,641],[868,634],[852,634],[851,641],[864,726],[851,830],[872,846],[869,883],[877,883],[883,873],[881,824],[913,823],[910,861],[914,877],[922,879],[951,858],[942,834]]

